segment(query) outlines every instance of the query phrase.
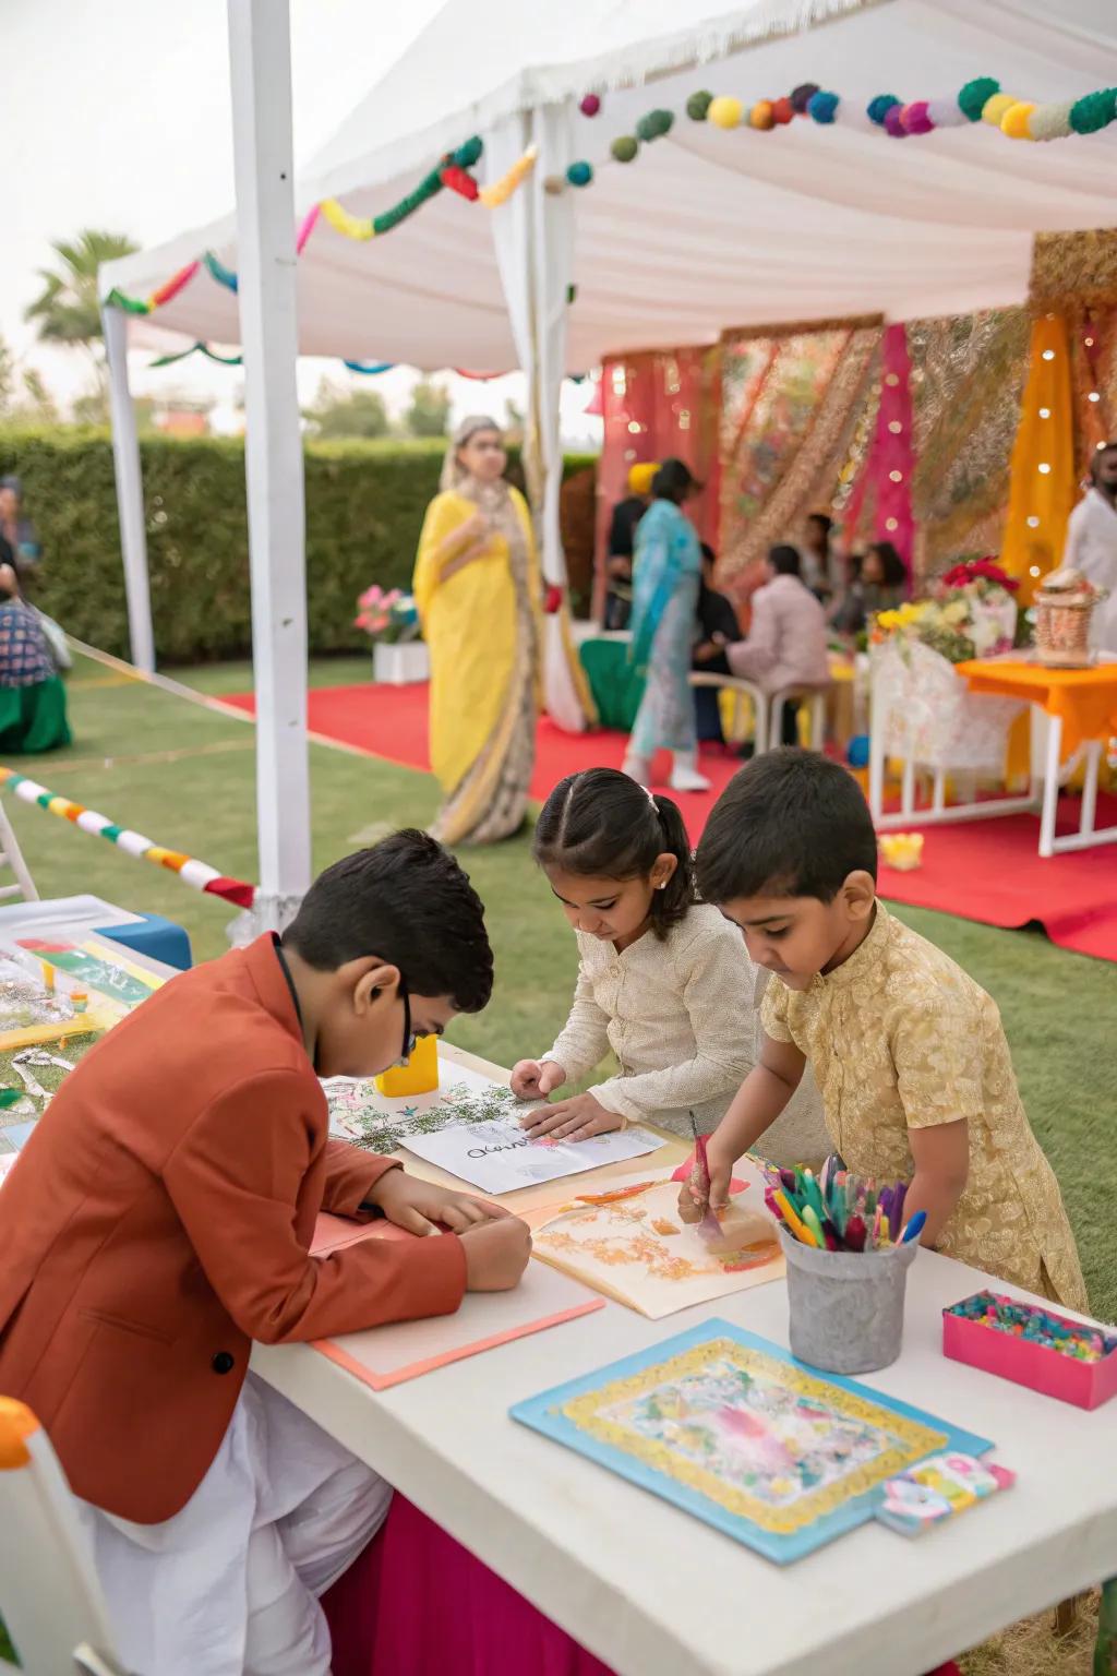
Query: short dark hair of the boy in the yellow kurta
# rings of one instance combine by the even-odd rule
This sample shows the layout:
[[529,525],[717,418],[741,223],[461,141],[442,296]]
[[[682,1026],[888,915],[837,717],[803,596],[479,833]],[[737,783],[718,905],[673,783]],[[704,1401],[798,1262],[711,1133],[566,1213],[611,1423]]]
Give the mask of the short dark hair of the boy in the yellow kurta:
[[816,751],[787,746],[754,758],[718,798],[697,872],[705,902],[832,902],[851,873],[876,878],[876,833],[861,786]]

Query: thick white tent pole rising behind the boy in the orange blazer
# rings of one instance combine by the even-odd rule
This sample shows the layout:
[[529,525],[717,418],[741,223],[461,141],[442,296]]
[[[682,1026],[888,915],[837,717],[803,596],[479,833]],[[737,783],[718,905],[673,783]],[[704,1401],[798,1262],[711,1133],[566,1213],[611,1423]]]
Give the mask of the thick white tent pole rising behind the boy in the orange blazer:
[[310,885],[288,0],[228,0],[228,18],[258,717],[253,930],[263,932],[281,930]]

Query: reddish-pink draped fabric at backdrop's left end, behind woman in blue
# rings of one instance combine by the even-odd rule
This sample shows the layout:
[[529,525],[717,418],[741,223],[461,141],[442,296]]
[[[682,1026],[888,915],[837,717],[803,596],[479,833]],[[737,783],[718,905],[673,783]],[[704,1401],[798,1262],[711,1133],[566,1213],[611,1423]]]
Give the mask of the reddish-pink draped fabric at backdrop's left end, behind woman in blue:
[[601,369],[600,401],[605,442],[598,466],[596,617],[605,598],[610,518],[628,494],[631,466],[672,456],[685,459],[703,484],[687,511],[702,540],[717,548],[720,350],[673,349],[613,357]]

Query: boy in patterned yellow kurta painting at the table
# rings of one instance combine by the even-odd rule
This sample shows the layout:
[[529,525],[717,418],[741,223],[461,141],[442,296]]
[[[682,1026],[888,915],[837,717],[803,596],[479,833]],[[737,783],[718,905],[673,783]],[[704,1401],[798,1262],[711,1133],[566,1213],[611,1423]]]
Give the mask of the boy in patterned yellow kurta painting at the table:
[[[911,1183],[904,1213],[926,1212],[924,1245],[1084,1311],[996,1006],[876,900],[876,835],[851,776],[807,751],[757,758],[713,810],[698,887],[774,974],[760,1063],[708,1141],[713,1203],[809,1061],[842,1161]],[[688,1187],[680,1212],[698,1213]]]

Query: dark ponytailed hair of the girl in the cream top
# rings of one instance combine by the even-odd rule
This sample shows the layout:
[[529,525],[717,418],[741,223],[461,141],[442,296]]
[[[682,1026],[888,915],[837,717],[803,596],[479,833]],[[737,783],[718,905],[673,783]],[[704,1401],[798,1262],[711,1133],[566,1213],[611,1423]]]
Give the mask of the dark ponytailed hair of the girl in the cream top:
[[533,845],[539,866],[616,880],[646,878],[668,851],[678,866],[651,897],[651,930],[660,939],[695,900],[690,838],[670,798],[653,796],[615,768],[568,774],[543,804]]

